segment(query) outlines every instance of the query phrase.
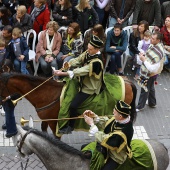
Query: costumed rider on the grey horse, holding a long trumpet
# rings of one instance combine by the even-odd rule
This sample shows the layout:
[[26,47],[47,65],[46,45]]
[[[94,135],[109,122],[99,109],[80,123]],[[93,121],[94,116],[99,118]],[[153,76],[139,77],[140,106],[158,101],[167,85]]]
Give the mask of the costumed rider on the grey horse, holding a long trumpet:
[[132,157],[130,142],[134,130],[130,116],[131,106],[120,100],[113,114],[114,116],[106,122],[104,131],[99,131],[92,118],[97,117],[96,114],[90,110],[83,113],[85,122],[90,125],[90,135],[95,135],[96,139],[96,142],[82,149],[84,154],[92,152],[91,170],[114,170],[123,164],[127,157]]

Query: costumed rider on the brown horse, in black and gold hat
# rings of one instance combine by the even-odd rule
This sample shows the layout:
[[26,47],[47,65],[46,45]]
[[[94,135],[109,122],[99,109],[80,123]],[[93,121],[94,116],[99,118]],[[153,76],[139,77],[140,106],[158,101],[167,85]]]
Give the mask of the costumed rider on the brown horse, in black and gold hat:
[[[99,94],[103,81],[103,62],[100,48],[103,41],[97,36],[92,36],[88,44],[87,50],[77,58],[71,59],[63,64],[63,68],[67,66],[75,67],[73,71],[68,70],[62,72],[54,70],[56,76],[69,76],[70,78],[79,77],[80,91],[76,94],[69,107],[70,117],[76,117],[77,108],[91,95]],[[74,130],[75,120],[70,120],[62,129],[59,129],[61,134],[68,134]]]

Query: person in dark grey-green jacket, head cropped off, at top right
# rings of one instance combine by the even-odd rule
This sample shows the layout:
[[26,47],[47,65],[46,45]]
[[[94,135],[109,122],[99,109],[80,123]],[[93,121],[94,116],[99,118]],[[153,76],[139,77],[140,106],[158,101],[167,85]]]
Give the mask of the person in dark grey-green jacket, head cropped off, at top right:
[[159,0],[137,0],[133,13],[132,25],[137,28],[138,23],[145,20],[149,25],[155,25],[155,30],[161,26],[161,7]]

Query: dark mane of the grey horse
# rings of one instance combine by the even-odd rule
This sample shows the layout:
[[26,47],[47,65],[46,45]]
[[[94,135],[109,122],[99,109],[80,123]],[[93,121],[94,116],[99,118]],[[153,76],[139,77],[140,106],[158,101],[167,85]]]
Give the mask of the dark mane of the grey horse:
[[38,131],[37,129],[34,129],[34,128],[30,128],[28,126],[24,126],[23,127],[24,130],[26,131],[30,131],[31,133],[34,133],[35,135],[37,136],[40,136],[42,138],[44,138],[45,140],[48,140],[50,143],[52,143],[53,145],[55,145],[56,147],[62,149],[63,151],[67,152],[67,153],[70,153],[70,154],[73,154],[73,155],[78,155],[80,156],[82,159],[86,159],[84,154],[75,149],[74,147],[62,142],[61,140],[55,138],[53,135],[49,135],[48,133],[46,132],[41,132],[41,131]]

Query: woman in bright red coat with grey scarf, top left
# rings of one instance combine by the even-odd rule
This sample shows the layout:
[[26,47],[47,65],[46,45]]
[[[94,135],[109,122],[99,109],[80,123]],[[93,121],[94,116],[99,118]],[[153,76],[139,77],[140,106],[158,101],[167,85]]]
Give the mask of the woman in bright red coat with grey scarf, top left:
[[50,21],[50,11],[46,5],[46,0],[34,0],[34,6],[28,9],[33,22],[33,29],[38,34],[46,29],[47,23]]

